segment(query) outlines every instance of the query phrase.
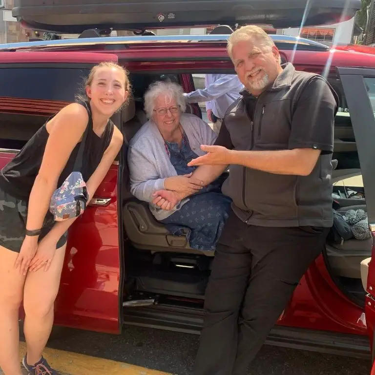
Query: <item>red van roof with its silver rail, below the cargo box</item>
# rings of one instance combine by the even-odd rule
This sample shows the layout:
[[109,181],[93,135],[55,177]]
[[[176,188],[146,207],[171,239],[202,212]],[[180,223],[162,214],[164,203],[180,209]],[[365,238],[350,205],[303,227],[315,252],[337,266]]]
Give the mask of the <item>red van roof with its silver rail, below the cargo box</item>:
[[[375,48],[354,44],[325,44],[287,35],[270,35],[281,54],[296,65],[357,66],[375,68]],[[187,60],[229,61],[226,45],[229,35],[171,35],[96,37],[0,44],[2,52],[75,51],[116,54],[127,61]]]

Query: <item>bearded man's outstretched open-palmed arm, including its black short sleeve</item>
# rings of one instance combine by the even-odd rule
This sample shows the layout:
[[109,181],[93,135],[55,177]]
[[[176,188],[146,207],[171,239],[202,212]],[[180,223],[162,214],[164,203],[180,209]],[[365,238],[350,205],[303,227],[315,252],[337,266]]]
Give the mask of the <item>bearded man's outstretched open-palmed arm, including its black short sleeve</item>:
[[333,152],[336,110],[337,97],[326,81],[316,77],[296,104],[288,150],[233,151],[202,146],[208,153],[191,161],[189,166],[238,164],[275,174],[309,175],[321,153]]

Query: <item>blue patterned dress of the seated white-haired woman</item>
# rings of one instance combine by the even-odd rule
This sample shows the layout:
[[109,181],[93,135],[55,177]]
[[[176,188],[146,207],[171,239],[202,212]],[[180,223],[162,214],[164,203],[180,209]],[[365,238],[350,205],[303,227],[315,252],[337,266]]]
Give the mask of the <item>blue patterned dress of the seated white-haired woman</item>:
[[[191,173],[196,167],[188,167],[192,159],[198,157],[190,148],[184,132],[181,148],[178,143],[166,142],[170,162],[177,174]],[[189,245],[198,250],[215,250],[228,218],[231,199],[221,193],[224,180],[219,177],[198,193],[190,195],[189,201],[181,209],[160,222],[175,235],[187,235]]]

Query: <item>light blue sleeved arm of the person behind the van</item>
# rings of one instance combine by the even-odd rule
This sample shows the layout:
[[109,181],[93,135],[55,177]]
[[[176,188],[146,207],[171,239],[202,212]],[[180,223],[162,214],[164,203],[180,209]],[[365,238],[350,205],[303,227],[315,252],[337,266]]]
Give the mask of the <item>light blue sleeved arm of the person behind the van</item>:
[[185,100],[187,103],[208,102],[226,94],[239,84],[237,75],[223,74],[221,78],[207,87],[184,94]]

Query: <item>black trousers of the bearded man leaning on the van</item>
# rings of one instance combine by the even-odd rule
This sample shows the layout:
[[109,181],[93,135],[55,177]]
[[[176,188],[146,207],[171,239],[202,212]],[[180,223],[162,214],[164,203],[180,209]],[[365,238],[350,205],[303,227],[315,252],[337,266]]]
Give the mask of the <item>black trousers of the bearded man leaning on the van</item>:
[[231,212],[216,246],[194,375],[246,375],[328,228],[248,226]]

